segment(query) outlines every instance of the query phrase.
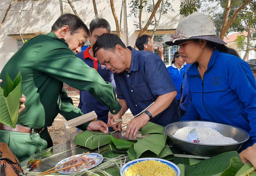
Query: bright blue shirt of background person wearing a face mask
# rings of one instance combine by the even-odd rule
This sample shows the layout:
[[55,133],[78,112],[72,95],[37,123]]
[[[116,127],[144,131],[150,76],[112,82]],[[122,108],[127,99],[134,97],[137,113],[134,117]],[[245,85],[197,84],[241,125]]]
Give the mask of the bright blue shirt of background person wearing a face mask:
[[173,65],[170,65],[170,67],[168,67],[167,69],[170,73],[170,76],[172,76],[174,85],[177,88],[177,97],[176,98],[177,98],[177,100],[180,100],[180,98],[181,98],[181,93],[180,93],[181,84],[183,82],[183,74],[186,70],[186,65],[183,65],[183,67],[180,69],[180,71],[179,71],[178,68],[173,67]]

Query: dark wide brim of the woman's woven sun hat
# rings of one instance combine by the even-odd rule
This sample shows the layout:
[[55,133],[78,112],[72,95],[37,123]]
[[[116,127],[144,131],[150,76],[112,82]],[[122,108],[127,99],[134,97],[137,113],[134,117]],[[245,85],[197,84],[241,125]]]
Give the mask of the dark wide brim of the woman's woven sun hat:
[[174,46],[174,45],[179,45],[180,43],[183,43],[187,40],[193,40],[193,39],[202,39],[202,40],[207,40],[207,41],[211,41],[214,43],[218,43],[221,45],[226,45],[227,43],[225,41],[223,41],[221,38],[217,37],[216,35],[203,35],[203,36],[196,36],[196,37],[190,37],[190,38],[186,38],[186,39],[180,39],[180,40],[175,40],[173,41],[166,41],[165,44],[168,46]]

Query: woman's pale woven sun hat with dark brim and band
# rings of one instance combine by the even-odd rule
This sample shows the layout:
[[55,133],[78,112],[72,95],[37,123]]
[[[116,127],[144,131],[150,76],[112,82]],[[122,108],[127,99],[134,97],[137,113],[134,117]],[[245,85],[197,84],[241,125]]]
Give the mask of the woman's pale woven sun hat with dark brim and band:
[[166,45],[179,45],[180,43],[191,39],[203,39],[221,45],[227,44],[221,38],[216,36],[214,24],[211,19],[199,12],[194,12],[183,18],[179,22],[177,30],[171,38],[170,41],[165,42]]

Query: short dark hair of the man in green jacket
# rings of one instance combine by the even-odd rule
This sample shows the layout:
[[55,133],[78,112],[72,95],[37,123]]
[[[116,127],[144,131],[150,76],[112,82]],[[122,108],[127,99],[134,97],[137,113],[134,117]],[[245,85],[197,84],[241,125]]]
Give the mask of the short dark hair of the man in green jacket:
[[84,24],[78,16],[71,13],[65,13],[61,15],[53,24],[52,32],[57,31],[65,25],[69,26],[71,35],[77,33],[79,29],[83,29],[84,31],[86,31],[87,35],[90,34],[86,24]]

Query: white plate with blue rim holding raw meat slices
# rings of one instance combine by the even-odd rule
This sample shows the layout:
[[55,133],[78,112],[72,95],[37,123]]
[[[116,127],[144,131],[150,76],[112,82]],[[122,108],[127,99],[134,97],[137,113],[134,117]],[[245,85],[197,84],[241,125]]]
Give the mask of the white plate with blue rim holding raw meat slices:
[[[83,155],[83,154],[84,154],[84,153],[78,154],[78,155],[74,155],[74,156],[69,157],[69,158],[65,158],[65,159],[61,160],[60,162],[58,162],[58,163],[55,165],[55,167],[57,167],[57,166],[59,166],[59,165],[65,163],[65,162],[67,162],[67,161],[73,159],[74,157],[80,157],[80,156]],[[85,155],[85,156],[87,156],[87,157],[89,157],[89,158],[92,158],[92,159],[96,159],[96,160],[94,160],[94,161],[95,161],[95,164],[92,165],[91,168],[93,168],[93,167],[99,165],[99,164],[103,161],[103,156],[102,156],[102,155],[99,155],[98,153],[88,153],[88,154]],[[57,167],[55,170],[61,169],[62,167],[63,167],[63,165]],[[91,168],[90,168],[90,169],[91,169]],[[89,170],[89,169],[84,168],[84,169],[81,169],[81,170],[78,171],[78,172],[82,172],[82,171],[84,171],[84,170]],[[72,173],[76,173],[76,172],[66,172],[66,171],[63,171],[63,170],[60,170],[60,171],[58,171],[58,172],[59,172],[59,173],[62,173],[62,174],[72,174]]]

